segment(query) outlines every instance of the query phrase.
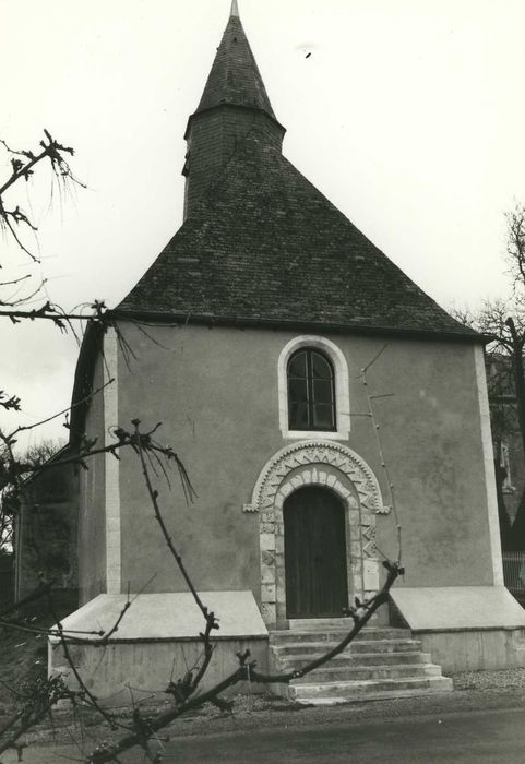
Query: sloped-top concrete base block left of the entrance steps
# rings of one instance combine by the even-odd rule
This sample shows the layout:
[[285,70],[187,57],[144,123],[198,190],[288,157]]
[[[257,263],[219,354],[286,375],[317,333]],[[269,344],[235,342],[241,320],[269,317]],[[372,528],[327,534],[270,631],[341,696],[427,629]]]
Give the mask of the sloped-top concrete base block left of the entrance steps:
[[[236,654],[246,649],[261,670],[266,670],[269,635],[252,593],[200,592],[199,596],[219,622],[219,629],[212,634],[215,648],[201,690],[232,673],[239,665]],[[92,644],[70,646],[86,687],[107,705],[129,702],[129,688],[136,697],[160,695],[170,681],[182,679],[203,659],[199,634],[205,624],[191,594],[142,594],[130,599],[129,610],[104,648]],[[126,601],[126,595],[98,595],[63,619],[63,629],[65,633],[99,629],[107,632]],[[96,638],[90,636],[88,642]],[[74,687],[71,667],[57,638],[49,640],[48,669],[62,673]]]

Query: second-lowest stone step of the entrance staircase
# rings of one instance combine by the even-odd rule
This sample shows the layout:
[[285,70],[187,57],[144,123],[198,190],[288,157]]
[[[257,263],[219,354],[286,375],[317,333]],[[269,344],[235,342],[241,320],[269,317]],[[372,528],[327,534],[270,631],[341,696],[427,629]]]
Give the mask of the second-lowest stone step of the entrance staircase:
[[293,680],[293,684],[338,683],[363,680],[416,679],[418,677],[441,677],[441,666],[435,664],[394,664],[375,666],[325,666],[313,669]]

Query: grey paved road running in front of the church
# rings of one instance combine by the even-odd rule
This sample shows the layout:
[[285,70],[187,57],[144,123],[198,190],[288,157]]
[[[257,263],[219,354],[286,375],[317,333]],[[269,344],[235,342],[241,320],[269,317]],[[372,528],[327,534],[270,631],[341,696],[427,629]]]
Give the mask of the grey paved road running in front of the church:
[[[315,727],[224,732],[181,738],[167,744],[166,762],[174,764],[525,764],[525,711],[490,711],[385,721],[351,721]],[[73,749],[36,748],[24,751],[27,764],[57,764],[76,760]],[[14,752],[2,764],[15,761]],[[143,762],[139,753],[122,757]]]

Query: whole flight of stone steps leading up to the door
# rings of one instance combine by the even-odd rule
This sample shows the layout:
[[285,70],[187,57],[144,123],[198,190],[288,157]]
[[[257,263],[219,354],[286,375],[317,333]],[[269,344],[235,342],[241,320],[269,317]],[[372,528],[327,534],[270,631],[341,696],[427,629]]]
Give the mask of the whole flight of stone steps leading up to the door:
[[[348,634],[346,619],[297,620],[270,633],[270,668],[286,672],[324,655]],[[296,625],[297,624],[297,625]],[[450,692],[452,679],[421,653],[409,629],[363,629],[336,657],[306,677],[272,685],[273,692],[303,704],[334,705],[386,697]]]

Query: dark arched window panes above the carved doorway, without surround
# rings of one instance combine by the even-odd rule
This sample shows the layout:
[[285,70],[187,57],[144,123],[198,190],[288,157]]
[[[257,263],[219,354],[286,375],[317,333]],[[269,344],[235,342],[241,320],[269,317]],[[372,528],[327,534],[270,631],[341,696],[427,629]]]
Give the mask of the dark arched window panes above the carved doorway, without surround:
[[335,430],[334,367],[324,353],[312,347],[294,353],[287,381],[289,429]]

